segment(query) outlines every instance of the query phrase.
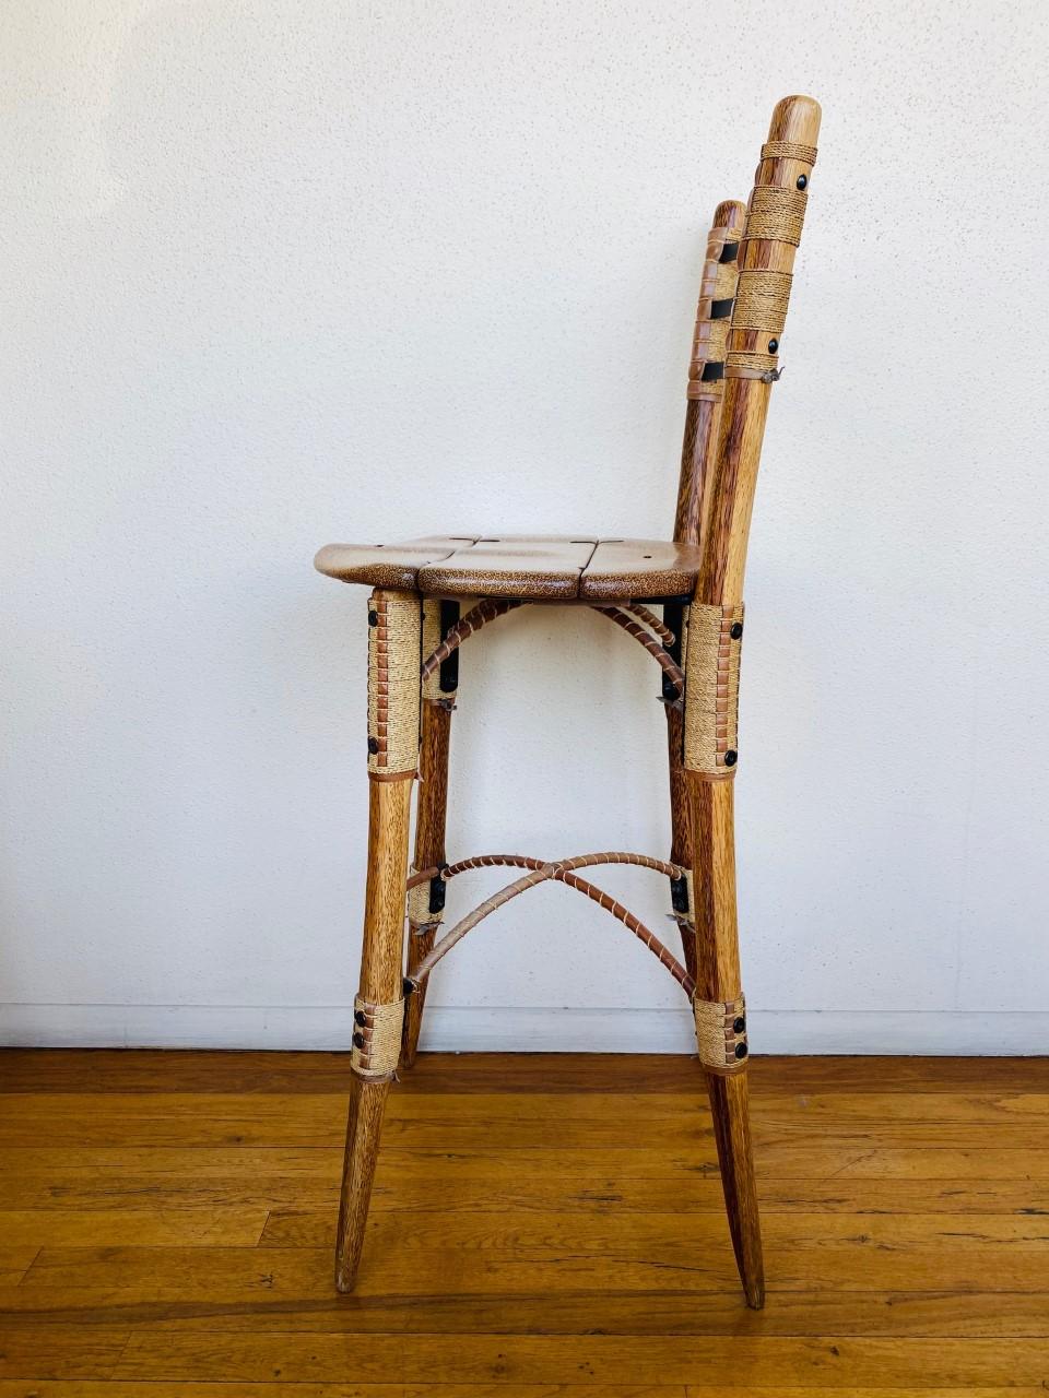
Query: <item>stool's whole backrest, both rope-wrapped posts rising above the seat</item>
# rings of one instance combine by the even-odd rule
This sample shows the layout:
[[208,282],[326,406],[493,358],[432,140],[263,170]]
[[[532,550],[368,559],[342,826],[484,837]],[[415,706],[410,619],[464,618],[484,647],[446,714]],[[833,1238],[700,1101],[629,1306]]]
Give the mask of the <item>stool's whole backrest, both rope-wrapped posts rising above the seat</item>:
[[765,415],[818,134],[818,102],[778,102],[745,211],[719,204],[711,229],[674,523],[677,540],[698,541],[702,549],[701,603],[743,600]]

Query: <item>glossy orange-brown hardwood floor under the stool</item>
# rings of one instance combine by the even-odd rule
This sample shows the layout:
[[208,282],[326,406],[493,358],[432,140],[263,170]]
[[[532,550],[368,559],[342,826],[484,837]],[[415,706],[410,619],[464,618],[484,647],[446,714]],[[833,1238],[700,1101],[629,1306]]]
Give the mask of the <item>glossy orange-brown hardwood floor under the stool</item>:
[[0,1053],[0,1398],[1045,1398],[1049,1060],[751,1083],[761,1314],[694,1061],[421,1058],[340,1297],[345,1058]]

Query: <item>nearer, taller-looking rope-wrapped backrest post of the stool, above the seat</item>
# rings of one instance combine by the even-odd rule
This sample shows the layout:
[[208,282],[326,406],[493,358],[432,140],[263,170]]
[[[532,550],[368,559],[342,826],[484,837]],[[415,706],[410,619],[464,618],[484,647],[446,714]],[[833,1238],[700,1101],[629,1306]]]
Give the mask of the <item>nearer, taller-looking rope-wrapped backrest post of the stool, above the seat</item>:
[[747,206],[740,278],[725,359],[725,397],[704,500],[704,562],[697,598],[743,600],[750,516],[772,384],[786,323],[794,254],[820,136],[820,103],[776,103]]

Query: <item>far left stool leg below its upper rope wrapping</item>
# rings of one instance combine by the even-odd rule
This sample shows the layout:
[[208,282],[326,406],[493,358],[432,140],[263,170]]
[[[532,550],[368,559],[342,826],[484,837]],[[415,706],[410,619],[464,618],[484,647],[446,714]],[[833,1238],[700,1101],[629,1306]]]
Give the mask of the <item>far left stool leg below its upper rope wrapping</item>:
[[[445,863],[445,815],[448,809],[448,747],[452,713],[436,699],[422,699],[422,747],[420,749],[420,787],[415,811],[415,868],[441,868]],[[413,895],[418,906],[413,906]],[[443,889],[441,889],[443,898]],[[408,895],[408,974],[432,949],[441,907],[428,884]],[[410,1068],[418,1053],[427,983],[408,995],[404,1009],[404,1046],[401,1067]]]

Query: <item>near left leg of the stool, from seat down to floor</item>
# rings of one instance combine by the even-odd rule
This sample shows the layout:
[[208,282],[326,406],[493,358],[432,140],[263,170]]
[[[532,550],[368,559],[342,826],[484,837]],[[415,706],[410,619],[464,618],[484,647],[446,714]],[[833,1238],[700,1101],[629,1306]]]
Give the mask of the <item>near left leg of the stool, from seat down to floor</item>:
[[368,619],[368,882],[336,1241],[340,1292],[357,1279],[382,1116],[400,1053],[408,821],[418,762],[418,598],[376,591]]

